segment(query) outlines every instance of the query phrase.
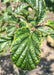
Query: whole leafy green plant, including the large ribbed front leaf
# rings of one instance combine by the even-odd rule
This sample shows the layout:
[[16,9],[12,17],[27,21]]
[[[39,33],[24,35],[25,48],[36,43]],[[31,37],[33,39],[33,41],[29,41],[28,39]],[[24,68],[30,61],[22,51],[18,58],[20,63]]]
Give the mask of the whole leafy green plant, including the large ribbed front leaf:
[[44,0],[12,0],[12,6],[10,2],[3,0],[6,9],[0,11],[0,55],[11,46],[13,63],[23,70],[32,70],[40,61],[42,37],[54,37],[54,22],[39,24],[46,17]]

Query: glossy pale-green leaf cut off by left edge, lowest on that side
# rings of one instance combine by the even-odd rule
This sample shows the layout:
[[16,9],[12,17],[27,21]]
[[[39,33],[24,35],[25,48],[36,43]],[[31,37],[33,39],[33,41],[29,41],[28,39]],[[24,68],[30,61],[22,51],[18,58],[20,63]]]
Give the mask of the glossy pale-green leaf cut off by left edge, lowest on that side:
[[10,45],[11,45],[11,38],[5,35],[0,35],[0,53],[5,51],[5,49],[8,48]]

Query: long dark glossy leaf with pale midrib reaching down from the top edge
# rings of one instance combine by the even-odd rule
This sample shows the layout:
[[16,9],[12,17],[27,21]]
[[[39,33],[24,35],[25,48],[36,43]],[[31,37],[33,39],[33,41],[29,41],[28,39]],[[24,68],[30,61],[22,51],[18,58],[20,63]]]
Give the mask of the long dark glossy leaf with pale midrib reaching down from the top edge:
[[35,10],[36,23],[42,22],[46,17],[46,5],[44,0],[26,0]]

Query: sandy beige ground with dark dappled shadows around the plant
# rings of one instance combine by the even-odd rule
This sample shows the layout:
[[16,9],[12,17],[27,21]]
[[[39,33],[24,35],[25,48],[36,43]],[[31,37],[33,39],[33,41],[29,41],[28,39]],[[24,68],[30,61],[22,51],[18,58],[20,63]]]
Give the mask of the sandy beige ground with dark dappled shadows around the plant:
[[[2,3],[0,3],[0,8],[5,8]],[[54,14],[48,11],[47,18],[44,22],[46,22],[47,19],[52,19],[54,21]],[[19,74],[15,72],[15,68],[8,51],[0,58],[0,75],[54,75],[54,48],[49,47],[47,45],[47,40],[44,40],[41,45],[41,59],[36,69],[27,71],[26,73],[20,69],[17,69],[17,71]]]

